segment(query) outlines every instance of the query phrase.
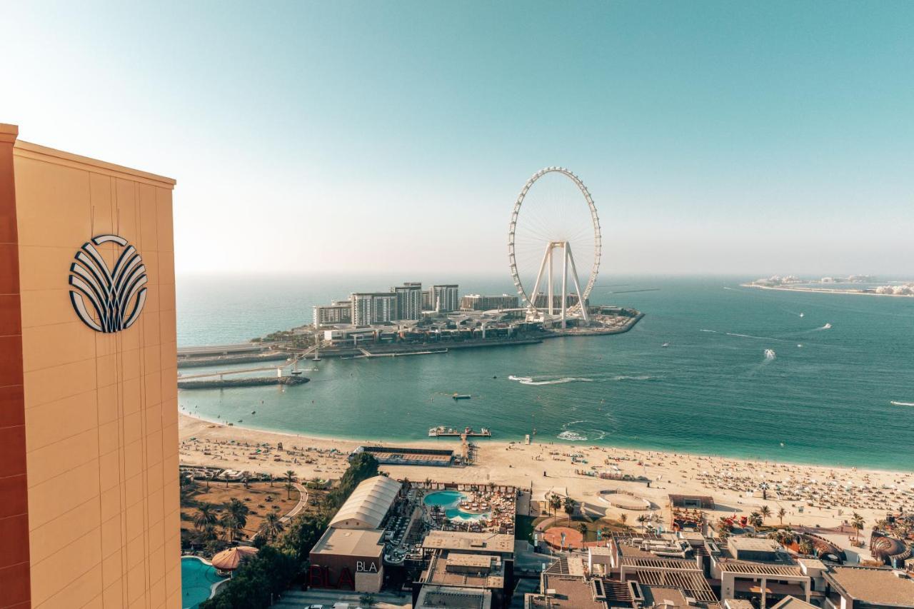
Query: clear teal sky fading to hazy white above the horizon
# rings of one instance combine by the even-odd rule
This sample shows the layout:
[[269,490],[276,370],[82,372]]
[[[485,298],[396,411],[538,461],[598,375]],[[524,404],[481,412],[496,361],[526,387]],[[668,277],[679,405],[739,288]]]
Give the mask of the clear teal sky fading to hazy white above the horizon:
[[181,274],[507,273],[566,166],[601,276],[914,278],[912,2],[0,4],[0,122],[174,177]]

